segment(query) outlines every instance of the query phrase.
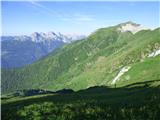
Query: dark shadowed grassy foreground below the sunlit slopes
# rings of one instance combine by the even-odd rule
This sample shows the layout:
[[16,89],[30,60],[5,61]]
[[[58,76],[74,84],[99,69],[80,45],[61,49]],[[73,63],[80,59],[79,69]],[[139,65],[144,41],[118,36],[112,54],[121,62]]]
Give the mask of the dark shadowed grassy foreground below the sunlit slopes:
[[159,120],[159,80],[121,88],[2,98],[2,120]]

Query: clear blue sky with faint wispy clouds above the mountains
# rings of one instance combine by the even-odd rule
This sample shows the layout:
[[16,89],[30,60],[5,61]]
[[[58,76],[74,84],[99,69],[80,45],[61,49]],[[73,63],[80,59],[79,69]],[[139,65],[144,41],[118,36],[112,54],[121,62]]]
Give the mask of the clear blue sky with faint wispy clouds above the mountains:
[[33,32],[89,34],[94,30],[133,21],[159,27],[158,2],[2,2],[2,35]]

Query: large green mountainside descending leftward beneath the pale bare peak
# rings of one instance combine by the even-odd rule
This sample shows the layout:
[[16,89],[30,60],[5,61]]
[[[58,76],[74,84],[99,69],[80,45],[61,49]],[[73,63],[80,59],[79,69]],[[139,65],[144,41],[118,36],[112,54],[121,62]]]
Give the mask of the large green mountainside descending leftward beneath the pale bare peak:
[[[145,64],[148,54],[160,48],[160,29],[132,34],[117,31],[118,27],[119,25],[99,29],[85,40],[66,45],[32,65],[12,70],[3,69],[2,93],[26,88],[79,90],[97,85],[111,86],[111,81],[123,66]],[[159,61],[159,57],[151,59]],[[156,64],[159,65],[159,62]],[[138,79],[130,79],[160,79],[158,65],[155,65],[156,69],[152,72],[156,77],[151,74],[143,79],[141,74],[137,74],[140,75]],[[128,74],[131,73],[128,71]],[[123,79],[122,76],[122,81]],[[130,80],[122,81],[118,83],[130,83]]]

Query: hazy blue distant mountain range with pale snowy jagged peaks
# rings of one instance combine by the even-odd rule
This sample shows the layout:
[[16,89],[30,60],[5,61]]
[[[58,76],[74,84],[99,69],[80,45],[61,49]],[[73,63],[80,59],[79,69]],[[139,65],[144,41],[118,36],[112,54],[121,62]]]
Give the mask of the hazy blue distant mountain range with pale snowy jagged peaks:
[[85,38],[84,35],[33,33],[30,36],[2,36],[2,67],[14,68],[31,64],[64,44]]

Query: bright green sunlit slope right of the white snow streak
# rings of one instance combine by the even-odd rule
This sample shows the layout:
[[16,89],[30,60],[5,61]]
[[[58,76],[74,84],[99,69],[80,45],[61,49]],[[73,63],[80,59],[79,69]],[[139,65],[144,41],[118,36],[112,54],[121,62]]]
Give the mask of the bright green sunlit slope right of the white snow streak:
[[[138,62],[131,65],[131,68],[126,72],[119,81],[118,86],[130,85],[136,82],[160,80],[160,56],[148,58],[143,62]],[[152,84],[158,86],[160,82]]]

